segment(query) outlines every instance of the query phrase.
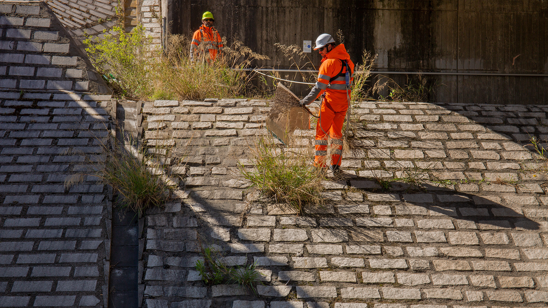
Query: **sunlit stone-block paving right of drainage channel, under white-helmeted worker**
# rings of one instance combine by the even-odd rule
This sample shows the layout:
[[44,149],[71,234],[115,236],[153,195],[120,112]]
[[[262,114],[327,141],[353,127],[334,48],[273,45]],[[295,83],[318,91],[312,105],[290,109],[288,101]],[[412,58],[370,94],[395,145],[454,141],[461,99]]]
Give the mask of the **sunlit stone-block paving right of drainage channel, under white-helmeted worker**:
[[[173,146],[165,167],[183,178],[181,203],[147,213],[144,306],[546,306],[546,181],[527,144],[545,139],[547,107],[359,103],[346,178],[325,181],[329,202],[304,216],[259,202],[237,175],[269,135],[268,110],[243,99],[143,104],[147,145]],[[313,134],[296,130],[288,148],[312,153]],[[373,179],[411,170],[424,172],[424,190],[382,191]],[[259,295],[204,285],[194,266],[208,245],[227,264],[255,263]]]

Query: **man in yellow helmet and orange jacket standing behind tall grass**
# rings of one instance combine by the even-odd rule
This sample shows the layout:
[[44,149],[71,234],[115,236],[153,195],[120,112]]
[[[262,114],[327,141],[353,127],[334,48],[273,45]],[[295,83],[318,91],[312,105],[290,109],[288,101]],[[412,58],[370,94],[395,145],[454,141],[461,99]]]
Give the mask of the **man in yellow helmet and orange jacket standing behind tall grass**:
[[[213,14],[206,12],[202,15],[202,26],[192,36],[192,43],[190,43],[190,61],[194,62],[196,58],[203,56],[204,60],[208,62],[214,61],[219,54],[219,50],[222,49],[222,39],[219,32],[213,26]],[[200,54],[198,48],[200,43],[206,43],[204,48],[209,50],[209,55]]]

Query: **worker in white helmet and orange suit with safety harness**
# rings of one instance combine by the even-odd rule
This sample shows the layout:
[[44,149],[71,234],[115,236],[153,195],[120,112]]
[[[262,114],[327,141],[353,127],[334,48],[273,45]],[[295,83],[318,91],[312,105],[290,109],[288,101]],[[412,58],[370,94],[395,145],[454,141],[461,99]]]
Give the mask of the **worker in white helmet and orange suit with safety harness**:
[[[322,105],[316,125],[316,156],[314,166],[327,168],[327,138],[331,136],[331,166],[328,173],[340,174],[341,155],[343,154],[343,124],[350,105],[350,87],[352,85],[354,64],[346,52],[344,44],[335,44],[328,34],[316,39],[316,47],[323,56],[319,67],[318,81],[310,93],[300,101],[309,105],[322,95]],[[325,92],[325,93],[324,93]]]

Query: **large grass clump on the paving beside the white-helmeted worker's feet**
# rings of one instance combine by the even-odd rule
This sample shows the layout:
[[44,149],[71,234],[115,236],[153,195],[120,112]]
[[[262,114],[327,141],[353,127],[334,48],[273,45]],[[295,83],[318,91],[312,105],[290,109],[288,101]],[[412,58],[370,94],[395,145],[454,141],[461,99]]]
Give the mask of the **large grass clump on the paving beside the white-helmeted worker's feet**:
[[323,174],[311,168],[310,158],[283,151],[272,141],[261,138],[251,150],[255,169],[239,166],[238,172],[262,194],[276,203],[287,203],[299,213],[305,204],[322,203]]

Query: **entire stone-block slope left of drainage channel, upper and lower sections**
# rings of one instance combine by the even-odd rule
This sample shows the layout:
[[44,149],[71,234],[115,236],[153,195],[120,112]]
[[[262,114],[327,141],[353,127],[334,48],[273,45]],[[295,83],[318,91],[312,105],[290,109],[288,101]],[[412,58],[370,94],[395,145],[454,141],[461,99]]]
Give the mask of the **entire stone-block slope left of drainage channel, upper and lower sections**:
[[104,159],[110,95],[45,3],[0,13],[0,306],[106,306],[112,193],[64,181]]

